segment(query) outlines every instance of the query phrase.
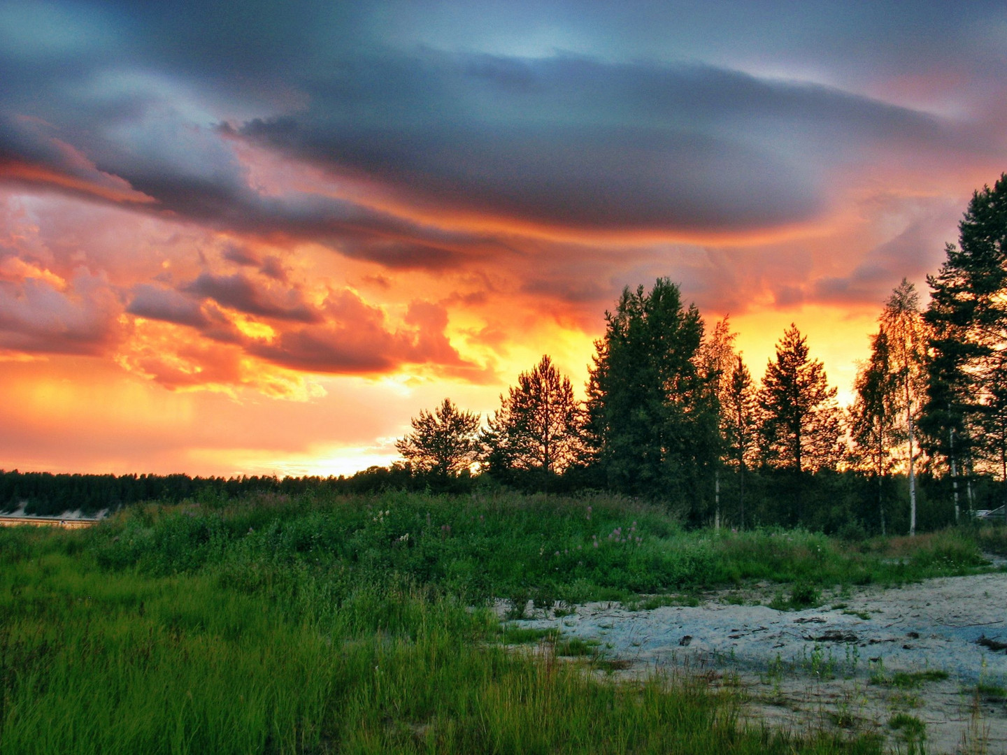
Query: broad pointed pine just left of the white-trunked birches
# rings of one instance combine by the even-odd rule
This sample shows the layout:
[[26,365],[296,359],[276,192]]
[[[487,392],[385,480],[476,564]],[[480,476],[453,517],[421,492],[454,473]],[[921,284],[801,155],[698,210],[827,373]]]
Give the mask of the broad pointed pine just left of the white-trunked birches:
[[797,472],[834,468],[839,461],[841,420],[836,389],[825,367],[808,358],[808,338],[795,324],[776,344],[758,394],[763,461]]

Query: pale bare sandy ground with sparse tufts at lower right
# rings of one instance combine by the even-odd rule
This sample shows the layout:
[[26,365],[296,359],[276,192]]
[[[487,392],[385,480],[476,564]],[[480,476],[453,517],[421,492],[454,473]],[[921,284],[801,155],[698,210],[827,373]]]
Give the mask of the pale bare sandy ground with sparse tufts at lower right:
[[921,732],[927,753],[1007,753],[1007,574],[862,588],[804,611],[752,604],[772,594],[650,611],[593,603],[521,623],[597,640],[630,676],[659,668],[739,685],[751,721],[874,731],[903,752]]

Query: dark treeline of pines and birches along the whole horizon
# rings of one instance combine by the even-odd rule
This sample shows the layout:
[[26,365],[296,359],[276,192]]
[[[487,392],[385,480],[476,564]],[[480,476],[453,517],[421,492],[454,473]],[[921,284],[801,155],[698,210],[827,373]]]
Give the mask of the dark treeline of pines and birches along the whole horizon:
[[904,279],[883,303],[846,409],[796,325],[756,384],[728,318],[708,329],[659,279],[605,312],[584,402],[544,355],[485,422],[450,399],[421,412],[389,467],[283,479],[0,472],[0,508],[510,488],[609,490],[716,527],[862,537],[968,519],[1007,500],[1007,175],[974,193],[959,229],[925,306]]

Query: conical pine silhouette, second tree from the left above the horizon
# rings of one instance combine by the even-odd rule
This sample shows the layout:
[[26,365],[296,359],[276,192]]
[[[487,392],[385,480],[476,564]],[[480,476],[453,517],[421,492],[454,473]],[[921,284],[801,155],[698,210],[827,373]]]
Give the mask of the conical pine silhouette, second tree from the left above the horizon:
[[543,356],[500,396],[500,408],[483,434],[488,466],[562,473],[583,455],[583,425],[570,379]]

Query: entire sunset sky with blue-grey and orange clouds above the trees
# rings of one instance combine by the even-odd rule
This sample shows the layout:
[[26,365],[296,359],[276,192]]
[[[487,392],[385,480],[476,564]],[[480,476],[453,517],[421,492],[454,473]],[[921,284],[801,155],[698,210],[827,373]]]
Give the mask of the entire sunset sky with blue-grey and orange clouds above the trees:
[[0,0],[0,468],[387,464],[658,277],[848,401],[1005,116],[1002,2]]

